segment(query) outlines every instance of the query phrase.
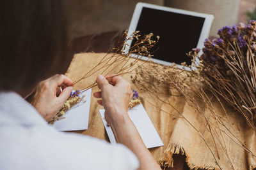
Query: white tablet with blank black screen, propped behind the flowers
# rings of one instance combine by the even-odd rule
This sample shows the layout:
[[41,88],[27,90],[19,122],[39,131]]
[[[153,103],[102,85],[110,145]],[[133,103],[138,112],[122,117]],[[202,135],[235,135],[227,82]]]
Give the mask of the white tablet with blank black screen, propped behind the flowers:
[[[152,60],[169,66],[175,63],[181,67],[182,62],[191,64],[186,53],[193,48],[203,48],[213,18],[213,15],[204,13],[138,3],[127,34],[131,36],[134,31],[140,31],[141,36],[152,32],[152,39],[159,36],[159,42],[151,51],[154,52]],[[129,47],[134,43],[135,39],[127,41],[126,52],[129,52]],[[148,57],[141,56],[141,59],[148,60]]]

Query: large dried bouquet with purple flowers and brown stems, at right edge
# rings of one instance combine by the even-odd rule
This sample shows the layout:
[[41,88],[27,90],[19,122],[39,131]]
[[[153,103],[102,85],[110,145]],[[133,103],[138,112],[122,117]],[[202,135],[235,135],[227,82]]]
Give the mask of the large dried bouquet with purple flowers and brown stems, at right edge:
[[205,40],[200,74],[212,92],[239,111],[255,131],[256,22],[223,27],[218,34],[218,39]]

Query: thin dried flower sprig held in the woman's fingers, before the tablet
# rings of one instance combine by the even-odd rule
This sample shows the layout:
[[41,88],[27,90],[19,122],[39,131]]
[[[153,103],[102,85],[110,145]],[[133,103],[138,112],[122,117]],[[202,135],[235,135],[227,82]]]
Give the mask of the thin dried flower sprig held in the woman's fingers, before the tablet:
[[[81,78],[79,78],[79,80],[74,81],[73,85],[75,85],[76,83],[78,83],[81,80],[84,80],[90,76],[92,76],[93,74],[97,73],[98,71],[101,71],[100,74],[111,74],[113,73],[113,71],[115,71],[116,69],[119,69],[117,71],[115,71],[115,75],[113,76],[118,76],[118,75],[124,75],[124,74],[129,74],[132,73],[134,71],[134,69],[140,67],[141,65],[145,64],[146,62],[148,62],[147,60],[145,60],[142,64],[140,64],[139,66],[136,66],[136,64],[138,64],[138,61],[141,59],[142,56],[148,56],[150,55],[150,49],[156,45],[157,41],[159,38],[157,38],[157,41],[152,40],[152,36],[153,34],[147,34],[145,36],[140,36],[140,34],[138,34],[139,31],[136,31],[132,34],[131,37],[127,38],[127,31],[124,32],[124,34],[122,35],[122,37],[126,37],[125,41],[122,41],[122,37],[120,39],[118,39],[118,45],[116,48],[114,48],[115,53],[110,54],[107,53],[106,55],[104,55],[104,57],[100,60],[100,62],[94,66],[90,71],[88,71],[86,74],[84,74],[84,76],[82,76]],[[124,53],[125,49],[127,48],[127,41],[132,40],[132,39],[136,39],[136,42],[134,43],[134,45],[131,46],[129,52]],[[137,53],[138,55],[136,57],[133,57],[133,59],[131,59],[131,55],[133,53]],[[109,56],[109,57],[107,57]],[[134,67],[135,66],[135,67]],[[107,72],[108,71],[108,72]],[[81,89],[81,92],[84,92],[92,87],[97,86],[97,82],[93,82],[91,85],[88,85],[88,87],[85,87],[84,89]]]

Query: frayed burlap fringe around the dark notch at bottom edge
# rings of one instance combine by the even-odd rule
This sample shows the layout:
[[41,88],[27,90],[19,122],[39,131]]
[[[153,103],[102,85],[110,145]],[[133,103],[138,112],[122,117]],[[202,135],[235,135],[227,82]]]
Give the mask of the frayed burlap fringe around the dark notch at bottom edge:
[[[193,162],[191,162],[191,159],[188,155],[188,152],[186,152],[186,149],[183,147],[175,144],[170,143],[166,150],[164,151],[166,154],[163,161],[159,161],[160,166],[162,167],[173,167],[173,154],[181,154],[186,155],[186,164],[188,164],[189,169],[209,169],[209,170],[220,170],[218,167],[212,167],[207,165],[196,165]],[[254,168],[254,166],[253,166]]]

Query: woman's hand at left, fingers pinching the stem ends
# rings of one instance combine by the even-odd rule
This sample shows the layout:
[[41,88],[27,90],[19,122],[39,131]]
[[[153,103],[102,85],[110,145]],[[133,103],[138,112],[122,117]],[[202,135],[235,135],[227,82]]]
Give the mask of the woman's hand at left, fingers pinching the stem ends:
[[63,74],[56,74],[38,83],[31,104],[49,122],[61,109],[72,90],[72,80]]

